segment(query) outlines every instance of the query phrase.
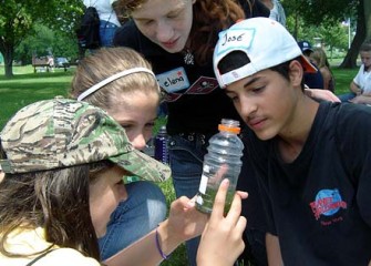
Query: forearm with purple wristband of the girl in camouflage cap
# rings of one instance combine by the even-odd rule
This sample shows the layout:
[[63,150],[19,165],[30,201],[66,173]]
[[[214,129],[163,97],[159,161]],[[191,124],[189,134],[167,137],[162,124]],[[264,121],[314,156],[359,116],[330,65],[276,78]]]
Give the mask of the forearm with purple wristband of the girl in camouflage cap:
[[[183,239],[176,238],[168,229],[167,219],[158,226],[158,242],[162,252],[171,254]],[[104,262],[107,266],[124,265],[158,265],[164,258],[161,256],[156,246],[156,231],[152,231],[134,244],[121,250],[116,255]]]

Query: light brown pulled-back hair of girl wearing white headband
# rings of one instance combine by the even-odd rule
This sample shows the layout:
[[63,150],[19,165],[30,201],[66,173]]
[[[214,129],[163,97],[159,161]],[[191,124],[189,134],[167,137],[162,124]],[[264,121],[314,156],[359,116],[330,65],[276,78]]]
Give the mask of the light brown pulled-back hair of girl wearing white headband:
[[[76,69],[72,80],[70,95],[74,99],[96,83],[133,68],[146,68],[151,64],[136,51],[130,48],[103,48],[84,58]],[[137,91],[144,94],[157,93],[157,80],[146,72],[136,72],[116,79],[87,95],[83,101],[107,110],[117,104],[118,95],[131,94]]]

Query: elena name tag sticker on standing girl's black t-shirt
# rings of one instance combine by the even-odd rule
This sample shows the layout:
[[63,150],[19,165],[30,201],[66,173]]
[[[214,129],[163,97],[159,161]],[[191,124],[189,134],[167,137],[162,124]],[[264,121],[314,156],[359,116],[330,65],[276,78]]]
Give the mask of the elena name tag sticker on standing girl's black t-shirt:
[[173,93],[189,88],[189,81],[184,68],[173,69],[156,75],[159,86]]

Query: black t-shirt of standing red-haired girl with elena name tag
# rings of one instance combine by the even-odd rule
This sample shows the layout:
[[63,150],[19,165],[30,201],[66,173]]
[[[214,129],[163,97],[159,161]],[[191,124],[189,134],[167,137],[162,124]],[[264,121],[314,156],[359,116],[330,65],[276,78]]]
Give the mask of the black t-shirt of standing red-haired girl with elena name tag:
[[[245,2],[245,1],[241,1]],[[244,6],[244,10],[248,10]],[[268,17],[269,10],[256,1],[251,16]],[[168,53],[144,37],[133,21],[117,29],[114,45],[130,47],[142,53],[152,64],[159,85],[167,92],[167,132],[204,133],[217,132],[221,119],[239,120],[231,101],[218,86],[214,74],[213,59],[205,65],[185,63],[184,53]]]

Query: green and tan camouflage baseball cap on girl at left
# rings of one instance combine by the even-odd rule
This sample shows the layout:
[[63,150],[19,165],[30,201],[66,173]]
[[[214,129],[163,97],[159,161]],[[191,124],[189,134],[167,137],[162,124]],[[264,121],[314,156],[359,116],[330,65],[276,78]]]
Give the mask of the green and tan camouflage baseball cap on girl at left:
[[1,132],[6,173],[27,173],[109,160],[143,180],[165,181],[168,166],[137,151],[125,130],[86,102],[53,99],[19,112]]

